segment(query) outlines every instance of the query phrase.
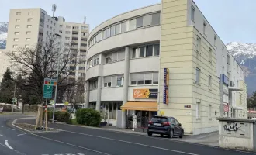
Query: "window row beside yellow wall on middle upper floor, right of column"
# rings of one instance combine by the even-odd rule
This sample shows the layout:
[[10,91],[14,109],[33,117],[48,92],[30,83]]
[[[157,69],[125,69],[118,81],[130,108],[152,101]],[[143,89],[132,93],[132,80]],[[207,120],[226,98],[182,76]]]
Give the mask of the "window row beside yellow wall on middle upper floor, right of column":
[[135,47],[133,48],[132,58],[158,56],[159,50],[159,44]]

